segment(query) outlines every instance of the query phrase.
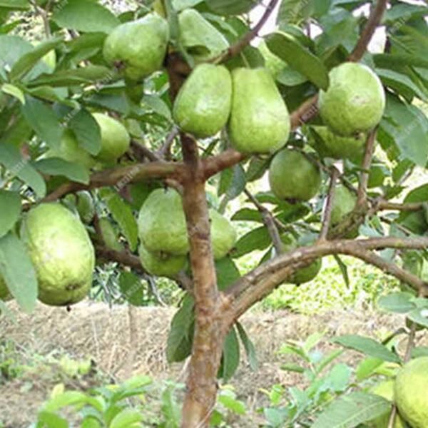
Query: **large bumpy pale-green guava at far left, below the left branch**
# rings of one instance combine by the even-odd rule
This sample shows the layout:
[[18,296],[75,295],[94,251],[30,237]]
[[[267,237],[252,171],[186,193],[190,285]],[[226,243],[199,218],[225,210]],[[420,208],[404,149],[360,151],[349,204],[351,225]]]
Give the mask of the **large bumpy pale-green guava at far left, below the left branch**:
[[42,203],[27,213],[21,228],[39,282],[39,300],[71,305],[92,285],[95,253],[83,224],[59,203]]

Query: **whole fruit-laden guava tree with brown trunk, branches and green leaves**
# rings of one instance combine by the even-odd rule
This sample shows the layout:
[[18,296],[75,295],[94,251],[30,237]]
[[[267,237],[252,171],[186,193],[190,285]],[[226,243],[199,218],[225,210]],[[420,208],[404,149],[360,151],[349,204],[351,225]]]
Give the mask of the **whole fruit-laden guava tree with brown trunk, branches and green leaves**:
[[[323,257],[428,294],[427,6],[258,3],[0,1],[0,297],[70,306],[106,261],[131,303],[171,277],[186,292],[168,339],[170,361],[190,355],[183,427],[208,426],[238,337],[252,357],[240,315]],[[418,302],[410,337],[427,325]]]

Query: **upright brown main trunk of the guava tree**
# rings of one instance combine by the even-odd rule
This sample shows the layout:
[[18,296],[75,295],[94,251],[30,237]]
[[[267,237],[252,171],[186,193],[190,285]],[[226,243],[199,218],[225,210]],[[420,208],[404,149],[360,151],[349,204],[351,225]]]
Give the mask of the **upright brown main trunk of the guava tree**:
[[195,297],[195,335],[183,406],[183,428],[208,427],[217,394],[217,373],[225,337],[220,293],[210,242],[205,178],[193,138],[182,136],[188,177],[183,183],[183,208],[190,240]]

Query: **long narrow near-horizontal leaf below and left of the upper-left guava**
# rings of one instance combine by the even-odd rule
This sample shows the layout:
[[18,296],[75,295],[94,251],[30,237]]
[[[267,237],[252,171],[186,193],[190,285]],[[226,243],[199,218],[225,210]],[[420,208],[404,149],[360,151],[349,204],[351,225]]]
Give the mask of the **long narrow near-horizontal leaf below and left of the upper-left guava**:
[[28,83],[34,86],[73,86],[80,83],[96,83],[96,81],[108,81],[113,78],[112,71],[104,66],[89,65],[72,70],[58,70],[51,74],[42,74]]

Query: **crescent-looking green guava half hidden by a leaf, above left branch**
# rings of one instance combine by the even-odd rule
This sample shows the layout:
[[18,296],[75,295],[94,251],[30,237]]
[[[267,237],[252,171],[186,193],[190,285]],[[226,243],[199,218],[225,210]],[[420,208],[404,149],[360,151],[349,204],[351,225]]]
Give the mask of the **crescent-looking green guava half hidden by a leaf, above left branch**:
[[121,122],[103,113],[93,113],[101,129],[101,151],[96,158],[99,161],[116,161],[128,151],[131,138]]

